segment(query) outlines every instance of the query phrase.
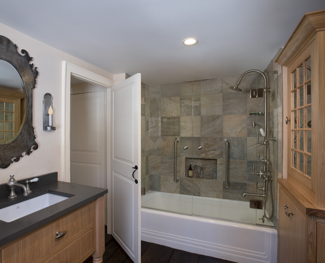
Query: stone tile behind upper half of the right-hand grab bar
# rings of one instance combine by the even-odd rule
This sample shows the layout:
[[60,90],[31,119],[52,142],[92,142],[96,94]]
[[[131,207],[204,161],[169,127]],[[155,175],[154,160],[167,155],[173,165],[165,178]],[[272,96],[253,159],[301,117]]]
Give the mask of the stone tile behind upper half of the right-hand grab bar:
[[[226,159],[226,143],[223,143],[224,159]],[[247,137],[231,137],[228,151],[229,159],[247,159]]]

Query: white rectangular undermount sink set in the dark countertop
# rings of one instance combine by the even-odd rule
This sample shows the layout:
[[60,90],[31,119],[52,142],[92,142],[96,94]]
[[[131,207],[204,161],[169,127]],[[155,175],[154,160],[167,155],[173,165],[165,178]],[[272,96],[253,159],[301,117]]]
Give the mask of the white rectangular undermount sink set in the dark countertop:
[[0,220],[11,222],[68,198],[69,197],[46,193],[0,209]]

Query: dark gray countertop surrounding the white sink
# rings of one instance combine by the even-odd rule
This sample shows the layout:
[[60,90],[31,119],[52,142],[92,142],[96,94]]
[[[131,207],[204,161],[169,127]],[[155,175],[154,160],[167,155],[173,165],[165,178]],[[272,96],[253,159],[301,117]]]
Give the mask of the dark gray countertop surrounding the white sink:
[[62,196],[73,196],[9,223],[0,220],[0,246],[108,193],[108,190],[104,188],[61,181],[50,182],[34,188],[32,183],[30,185],[33,192],[29,196],[22,196],[22,193],[16,191],[19,195],[16,200],[9,201],[6,196],[0,197],[0,209],[52,191],[59,192],[58,194]]

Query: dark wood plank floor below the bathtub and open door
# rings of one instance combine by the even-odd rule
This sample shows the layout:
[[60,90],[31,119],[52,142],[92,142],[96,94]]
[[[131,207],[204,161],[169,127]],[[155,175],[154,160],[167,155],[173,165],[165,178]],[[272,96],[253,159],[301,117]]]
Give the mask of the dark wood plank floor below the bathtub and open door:
[[[92,263],[89,257],[84,263]],[[132,263],[132,259],[111,235],[105,236],[103,263]],[[235,263],[211,256],[203,256],[168,246],[141,241],[141,263]]]

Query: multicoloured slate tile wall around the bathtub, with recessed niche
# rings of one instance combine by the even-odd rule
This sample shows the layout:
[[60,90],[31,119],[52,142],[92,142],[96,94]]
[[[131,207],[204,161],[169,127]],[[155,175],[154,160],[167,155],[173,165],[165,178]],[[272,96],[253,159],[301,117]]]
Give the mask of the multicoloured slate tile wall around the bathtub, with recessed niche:
[[[146,169],[146,180],[142,183],[146,185],[146,191],[193,194],[241,201],[250,199],[250,197],[241,197],[243,192],[257,192],[256,181],[261,186],[262,180],[252,173],[253,166],[255,171],[263,168],[263,164],[256,161],[258,152],[263,156],[263,146],[256,144],[257,135],[262,136],[256,127],[253,129],[252,121],[263,127],[264,116],[249,115],[249,112],[263,110],[264,98],[251,99],[250,89],[264,87],[264,79],[260,74],[246,75],[240,83],[242,93],[239,93],[229,89],[230,85],[236,85],[239,77],[238,75],[163,85],[145,85],[146,105],[143,111],[149,123],[149,130],[145,133],[148,139],[145,142],[149,145],[141,143],[141,146],[148,149],[144,151],[148,152],[148,158],[147,155],[145,156],[148,159],[146,163],[148,169]],[[272,76],[271,80],[273,91],[270,96],[272,106],[269,115],[272,124],[269,129],[273,132],[273,129],[278,129],[278,125],[275,125],[275,121],[278,122],[276,98],[278,91],[274,90],[278,89],[278,85],[274,82],[279,78]],[[179,183],[174,183],[175,137],[180,139],[177,143],[179,157],[177,157],[176,167]],[[229,188],[224,187],[225,138],[231,140],[228,163]],[[183,150],[185,145],[189,147],[188,150]],[[203,146],[201,151],[197,149],[199,145]],[[272,169],[275,169],[275,159],[278,167],[278,156],[275,156],[275,152],[278,151],[278,145],[272,146]],[[213,179],[188,178],[189,164],[192,164],[193,168],[194,165],[198,165],[199,170],[203,167],[204,174],[211,175]],[[277,168],[275,171],[278,173]],[[276,183],[273,184],[276,186]]]

